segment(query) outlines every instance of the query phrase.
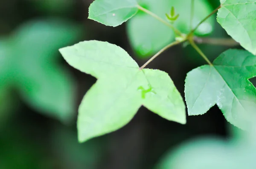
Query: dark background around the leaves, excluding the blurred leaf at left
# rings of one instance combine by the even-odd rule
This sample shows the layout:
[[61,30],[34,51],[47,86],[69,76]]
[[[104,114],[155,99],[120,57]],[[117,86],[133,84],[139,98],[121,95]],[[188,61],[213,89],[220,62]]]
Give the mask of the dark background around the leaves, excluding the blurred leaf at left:
[[[71,5],[66,6],[63,0],[52,0],[56,4],[49,6],[37,1],[40,0],[0,0],[0,35],[8,36],[28,20],[60,17],[82,26],[83,36],[77,42],[108,41],[128,51],[139,65],[146,62],[132,51],[125,24],[113,28],[87,19],[92,0],[71,0]],[[209,0],[209,3],[212,8],[219,5],[218,0]],[[212,36],[227,35],[216,22]],[[210,60],[225,50],[219,46],[200,47]],[[61,55],[59,60],[76,79],[77,110],[96,79],[70,67]],[[184,97],[186,73],[203,64],[206,63],[191,47],[177,46],[164,52],[148,68],[169,73]],[[151,169],[162,155],[183,141],[205,135],[227,137],[226,120],[217,106],[205,115],[187,117],[186,125],[167,121],[141,107],[133,120],[120,130],[79,144],[76,119],[64,125],[30,108],[15,91],[13,96],[17,103],[11,106],[19,107],[14,112],[6,112],[0,120],[0,169]]]

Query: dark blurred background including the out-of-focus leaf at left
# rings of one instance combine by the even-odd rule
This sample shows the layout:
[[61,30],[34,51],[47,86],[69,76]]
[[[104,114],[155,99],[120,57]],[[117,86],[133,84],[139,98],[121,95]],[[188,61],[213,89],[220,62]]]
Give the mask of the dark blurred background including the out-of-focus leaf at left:
[[[96,39],[124,48],[139,65],[147,60],[132,50],[125,24],[113,28],[87,19],[92,2],[0,0],[0,169],[160,168],[166,153],[176,153],[172,149],[183,142],[210,135],[211,146],[217,138],[231,137],[216,105],[205,115],[187,117],[186,125],[141,107],[122,129],[79,144],[78,106],[96,79],[70,67],[58,49]],[[212,9],[219,5],[219,0],[207,2]],[[216,21],[214,26],[210,36],[227,37]],[[227,49],[200,47],[210,60]],[[203,64],[190,46],[177,46],[148,68],[169,73],[184,96],[186,73]]]

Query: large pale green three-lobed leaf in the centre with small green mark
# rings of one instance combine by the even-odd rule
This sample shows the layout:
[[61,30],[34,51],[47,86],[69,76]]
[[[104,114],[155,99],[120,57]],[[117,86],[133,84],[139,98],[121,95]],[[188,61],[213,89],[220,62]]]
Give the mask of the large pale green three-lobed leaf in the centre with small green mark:
[[119,129],[142,105],[163,118],[186,123],[183,99],[167,73],[139,70],[122,48],[108,42],[80,42],[60,52],[71,66],[98,79],[79,107],[80,142]]

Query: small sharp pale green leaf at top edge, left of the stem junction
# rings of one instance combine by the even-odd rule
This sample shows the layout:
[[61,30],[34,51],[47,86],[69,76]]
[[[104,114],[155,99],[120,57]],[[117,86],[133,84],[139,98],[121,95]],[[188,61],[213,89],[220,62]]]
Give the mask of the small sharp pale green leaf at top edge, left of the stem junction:
[[136,0],[95,0],[89,7],[89,19],[118,26],[138,11]]

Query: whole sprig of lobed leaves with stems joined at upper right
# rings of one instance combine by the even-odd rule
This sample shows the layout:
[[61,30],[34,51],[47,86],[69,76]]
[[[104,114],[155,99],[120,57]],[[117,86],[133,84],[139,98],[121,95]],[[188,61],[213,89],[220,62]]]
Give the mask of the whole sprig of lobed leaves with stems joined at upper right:
[[[139,68],[124,50],[107,42],[85,41],[60,49],[70,65],[98,79],[79,107],[79,141],[119,129],[141,105],[163,118],[186,123],[183,100],[169,76],[160,70],[144,69],[163,51],[183,42],[209,64],[186,77],[189,115],[204,114],[217,104],[231,124],[251,129],[256,119],[256,89],[248,80],[256,76],[255,7],[253,0],[221,0],[221,6],[211,12],[205,0],[95,0],[88,18],[110,26],[131,19],[127,23],[131,46],[139,56],[156,54]],[[216,11],[227,33],[253,54],[233,49],[213,64],[209,61],[196,41],[203,42],[201,37],[212,32]],[[215,45],[220,42],[206,41]],[[231,41],[226,39],[222,45]]]

